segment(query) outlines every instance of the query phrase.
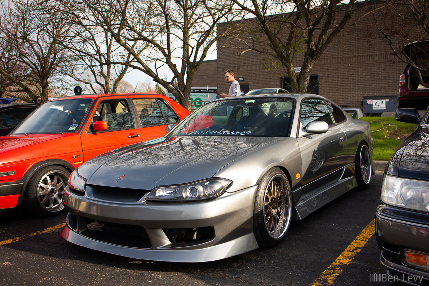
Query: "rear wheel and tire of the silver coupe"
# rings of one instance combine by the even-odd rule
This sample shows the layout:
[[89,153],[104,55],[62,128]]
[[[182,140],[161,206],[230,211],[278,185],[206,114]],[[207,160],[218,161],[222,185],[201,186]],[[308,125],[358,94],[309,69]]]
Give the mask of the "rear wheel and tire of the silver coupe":
[[366,189],[371,182],[371,158],[369,157],[368,146],[360,143],[354,158],[355,172],[358,189]]

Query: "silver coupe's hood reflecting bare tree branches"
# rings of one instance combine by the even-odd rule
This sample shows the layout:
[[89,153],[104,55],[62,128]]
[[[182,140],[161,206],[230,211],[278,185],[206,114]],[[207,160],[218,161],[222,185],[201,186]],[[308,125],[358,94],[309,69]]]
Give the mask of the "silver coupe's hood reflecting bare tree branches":
[[87,184],[150,190],[210,178],[237,158],[278,139],[162,137],[93,158],[78,173]]

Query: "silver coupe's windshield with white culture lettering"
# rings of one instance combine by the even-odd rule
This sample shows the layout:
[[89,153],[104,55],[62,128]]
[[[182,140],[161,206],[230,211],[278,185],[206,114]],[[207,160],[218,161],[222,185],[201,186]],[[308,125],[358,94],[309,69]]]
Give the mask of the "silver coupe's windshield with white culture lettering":
[[171,136],[288,136],[290,98],[214,101],[200,107],[172,131]]

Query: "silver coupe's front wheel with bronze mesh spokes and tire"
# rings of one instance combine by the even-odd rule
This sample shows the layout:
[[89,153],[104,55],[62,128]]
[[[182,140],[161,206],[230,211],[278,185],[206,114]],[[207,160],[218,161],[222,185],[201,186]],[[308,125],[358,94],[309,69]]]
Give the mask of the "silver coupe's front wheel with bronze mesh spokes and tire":
[[292,219],[289,181],[277,167],[261,179],[253,211],[253,232],[261,247],[278,245],[286,235]]

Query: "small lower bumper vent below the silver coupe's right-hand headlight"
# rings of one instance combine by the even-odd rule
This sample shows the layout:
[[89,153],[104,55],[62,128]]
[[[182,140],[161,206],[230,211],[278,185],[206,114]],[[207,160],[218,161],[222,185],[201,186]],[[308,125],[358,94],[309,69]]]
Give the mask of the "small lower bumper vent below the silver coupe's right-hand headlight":
[[206,226],[202,228],[163,228],[171,243],[202,242],[215,238],[215,228]]

